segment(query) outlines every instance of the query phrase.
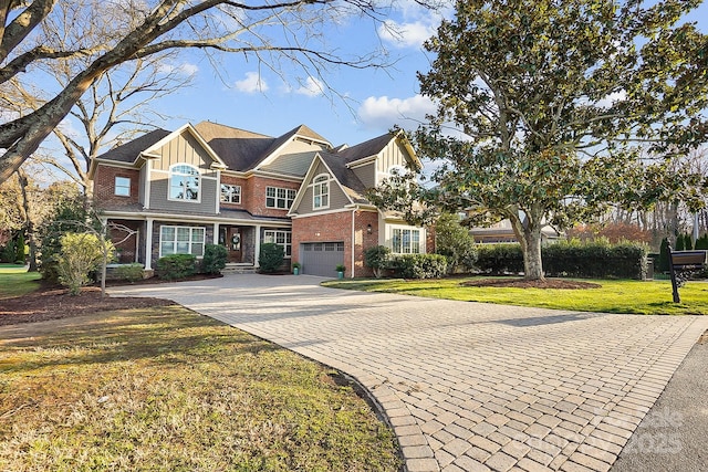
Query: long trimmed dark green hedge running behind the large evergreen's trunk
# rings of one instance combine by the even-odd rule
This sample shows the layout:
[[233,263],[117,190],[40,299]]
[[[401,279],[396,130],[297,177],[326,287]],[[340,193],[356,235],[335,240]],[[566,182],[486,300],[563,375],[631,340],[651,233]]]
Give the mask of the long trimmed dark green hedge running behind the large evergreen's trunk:
[[[491,274],[523,272],[519,244],[480,244],[477,266]],[[541,249],[543,271],[551,277],[637,279],[646,277],[646,245],[636,242],[560,241]]]

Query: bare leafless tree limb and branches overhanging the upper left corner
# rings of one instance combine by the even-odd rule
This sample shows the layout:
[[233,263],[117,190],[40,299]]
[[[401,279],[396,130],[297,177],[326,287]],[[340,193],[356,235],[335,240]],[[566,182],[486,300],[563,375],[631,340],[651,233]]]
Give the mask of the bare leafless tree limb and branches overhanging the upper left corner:
[[[55,9],[58,3],[72,2],[0,2],[0,85],[20,81],[32,67],[51,67],[75,57],[84,57],[87,64],[37,111],[11,116],[0,125],[0,148],[4,149],[0,180],[38,149],[96,80],[125,62],[196,48],[241,53],[272,69],[285,60],[320,78],[332,65],[384,65],[382,51],[344,56],[323,43],[325,27],[336,24],[342,15],[366,15],[379,22],[382,12],[369,0],[88,0],[74,9]],[[49,29],[56,31],[56,38],[35,34],[38,25],[51,22],[62,25]],[[111,34],[92,42],[95,35],[71,33],[70,23]]]

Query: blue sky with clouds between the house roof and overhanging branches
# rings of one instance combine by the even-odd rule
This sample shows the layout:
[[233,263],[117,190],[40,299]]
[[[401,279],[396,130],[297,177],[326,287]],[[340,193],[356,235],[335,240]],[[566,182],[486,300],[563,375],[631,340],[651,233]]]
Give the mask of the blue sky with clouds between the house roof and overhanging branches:
[[[394,125],[413,129],[435,111],[419,94],[416,73],[429,71],[433,57],[423,43],[436,33],[441,18],[451,17],[449,6],[431,12],[414,0],[397,0],[382,18],[400,32],[397,36],[381,22],[352,17],[342,18],[324,32],[325,48],[345,55],[383,46],[394,62],[385,70],[340,66],[313,78],[284,66],[279,76],[243,55],[209,59],[201,51],[184,51],[165,67],[191,75],[192,83],[150,102],[149,107],[163,116],[152,124],[174,130],[186,123],[211,120],[269,136],[304,124],[333,146],[363,143]],[[687,20],[708,32],[708,6],[701,4]],[[329,87],[334,92],[323,93]],[[63,126],[79,129],[76,123]]]

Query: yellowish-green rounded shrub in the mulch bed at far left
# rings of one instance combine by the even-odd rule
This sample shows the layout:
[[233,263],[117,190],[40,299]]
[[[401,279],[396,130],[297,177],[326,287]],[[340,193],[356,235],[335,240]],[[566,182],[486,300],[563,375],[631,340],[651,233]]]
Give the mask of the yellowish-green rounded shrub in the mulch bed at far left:
[[103,244],[107,244],[108,258],[113,253],[113,244],[102,242],[92,233],[65,233],[60,241],[62,250],[56,260],[59,282],[69,287],[69,293],[79,295],[81,287],[90,282],[88,274],[103,262]]

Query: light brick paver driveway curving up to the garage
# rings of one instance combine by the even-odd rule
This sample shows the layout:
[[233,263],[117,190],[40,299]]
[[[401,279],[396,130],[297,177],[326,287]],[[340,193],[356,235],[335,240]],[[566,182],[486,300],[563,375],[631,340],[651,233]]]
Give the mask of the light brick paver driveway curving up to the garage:
[[352,375],[388,416],[409,471],[606,471],[708,328],[708,317],[521,308],[320,281],[227,275],[111,292],[171,298]]

